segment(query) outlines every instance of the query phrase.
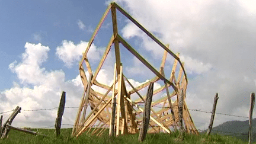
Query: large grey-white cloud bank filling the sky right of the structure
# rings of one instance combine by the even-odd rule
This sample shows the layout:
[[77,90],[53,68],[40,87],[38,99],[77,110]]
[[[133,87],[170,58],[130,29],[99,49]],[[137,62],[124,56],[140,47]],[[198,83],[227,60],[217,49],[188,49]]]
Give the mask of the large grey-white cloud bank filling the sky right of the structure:
[[[239,115],[249,106],[249,94],[256,85],[256,81],[250,80],[256,79],[256,43],[252,38],[256,33],[255,2],[119,0],[117,3],[165,44],[169,43],[174,53],[180,52],[186,71],[192,74],[188,75],[187,92],[196,95],[194,101],[188,101],[190,108],[207,107],[216,92],[220,97],[219,113]],[[155,57],[159,55],[158,49],[150,47],[151,41],[135,25],[127,23],[121,32],[126,39],[139,37],[144,49]],[[193,119],[200,122],[201,116],[205,115],[197,113]],[[215,122],[232,119],[239,118],[216,117]]]

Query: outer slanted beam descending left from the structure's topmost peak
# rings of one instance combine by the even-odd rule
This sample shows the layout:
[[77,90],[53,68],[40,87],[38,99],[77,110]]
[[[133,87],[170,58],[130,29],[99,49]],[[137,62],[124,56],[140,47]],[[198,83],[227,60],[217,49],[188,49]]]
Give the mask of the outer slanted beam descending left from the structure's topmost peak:
[[81,68],[82,63],[84,62],[85,56],[87,56],[87,53],[88,53],[88,51],[89,51],[89,48],[91,47],[91,44],[92,44],[92,42],[94,41],[95,36],[96,36],[97,33],[98,33],[98,30],[100,30],[101,25],[103,24],[105,18],[107,17],[107,14],[108,14],[108,12],[110,11],[110,8],[111,8],[111,5],[109,5],[109,6],[107,7],[107,9],[105,10],[105,12],[104,12],[104,14],[103,14],[103,17],[101,17],[100,22],[98,23],[96,29],[94,30],[94,33],[92,34],[92,37],[91,37],[91,39],[89,40],[87,49],[85,50],[84,55],[83,55],[83,57],[82,57],[82,60],[81,60],[81,62],[79,63],[79,68]]

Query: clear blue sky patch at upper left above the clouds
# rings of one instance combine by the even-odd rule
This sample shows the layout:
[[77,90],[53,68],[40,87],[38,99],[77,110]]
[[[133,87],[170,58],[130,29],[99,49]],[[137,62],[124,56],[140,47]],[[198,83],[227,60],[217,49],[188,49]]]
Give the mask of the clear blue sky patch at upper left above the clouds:
[[48,62],[44,63],[46,69],[66,69],[55,57],[56,47],[62,40],[88,41],[91,31],[79,29],[78,20],[93,30],[105,8],[104,1],[1,1],[0,78],[4,82],[1,82],[0,89],[12,87],[15,74],[8,65],[20,60],[26,42],[50,47]]

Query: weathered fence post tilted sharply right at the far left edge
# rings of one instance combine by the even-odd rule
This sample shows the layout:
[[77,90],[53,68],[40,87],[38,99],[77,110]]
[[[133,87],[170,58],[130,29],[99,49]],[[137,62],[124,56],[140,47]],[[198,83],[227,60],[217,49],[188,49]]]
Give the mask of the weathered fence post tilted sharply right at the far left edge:
[[14,112],[12,112],[9,119],[5,122],[1,131],[1,139],[5,139],[8,136],[10,128],[7,126],[7,124],[11,125],[12,120],[14,120],[14,118],[17,116],[18,113],[20,113],[20,111],[21,111],[21,107],[17,106]]

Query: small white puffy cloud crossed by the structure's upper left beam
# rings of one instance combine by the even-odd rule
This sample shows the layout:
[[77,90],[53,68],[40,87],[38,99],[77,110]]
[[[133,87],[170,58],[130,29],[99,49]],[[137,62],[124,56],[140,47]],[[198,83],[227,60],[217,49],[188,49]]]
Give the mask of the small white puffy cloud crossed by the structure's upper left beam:
[[[68,68],[73,66],[73,63],[77,63],[82,58],[82,53],[87,49],[88,42],[80,41],[78,44],[74,44],[72,41],[63,40],[62,46],[58,46],[56,49],[56,55],[62,60]],[[97,49],[94,44],[91,45],[88,52],[89,60],[101,59],[101,49]]]

